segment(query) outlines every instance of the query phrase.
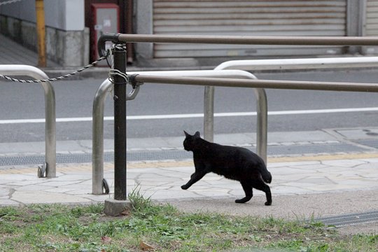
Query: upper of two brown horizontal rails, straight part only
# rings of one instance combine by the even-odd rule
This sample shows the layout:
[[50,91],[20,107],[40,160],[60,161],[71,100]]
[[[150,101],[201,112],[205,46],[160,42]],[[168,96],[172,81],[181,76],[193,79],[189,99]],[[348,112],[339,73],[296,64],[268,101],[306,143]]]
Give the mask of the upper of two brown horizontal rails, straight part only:
[[211,43],[235,45],[378,45],[377,36],[198,36],[119,34],[118,41],[129,43]]

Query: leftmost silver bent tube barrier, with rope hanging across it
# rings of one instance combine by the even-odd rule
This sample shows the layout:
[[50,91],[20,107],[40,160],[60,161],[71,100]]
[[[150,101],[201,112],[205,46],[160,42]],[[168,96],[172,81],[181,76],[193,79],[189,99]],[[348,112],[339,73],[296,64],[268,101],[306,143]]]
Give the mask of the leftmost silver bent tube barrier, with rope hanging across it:
[[[0,65],[0,73],[7,76],[30,76],[35,79],[48,79],[48,76],[34,66],[8,64]],[[56,176],[56,115],[55,91],[50,81],[40,83],[45,97],[45,176]]]

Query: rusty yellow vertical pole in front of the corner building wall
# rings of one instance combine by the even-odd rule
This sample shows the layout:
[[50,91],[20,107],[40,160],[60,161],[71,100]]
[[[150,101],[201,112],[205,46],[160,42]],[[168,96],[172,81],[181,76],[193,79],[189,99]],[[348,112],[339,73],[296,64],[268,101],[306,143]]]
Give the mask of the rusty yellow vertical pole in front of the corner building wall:
[[45,9],[43,0],[36,0],[36,31],[38,41],[38,66],[46,67]]

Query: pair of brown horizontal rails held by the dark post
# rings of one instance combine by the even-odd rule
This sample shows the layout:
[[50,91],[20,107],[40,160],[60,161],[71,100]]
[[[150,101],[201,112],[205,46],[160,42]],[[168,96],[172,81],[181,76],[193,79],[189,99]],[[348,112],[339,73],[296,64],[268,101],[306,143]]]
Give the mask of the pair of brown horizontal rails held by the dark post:
[[[330,36],[193,36],[193,35],[151,35],[151,34],[104,34],[99,38],[97,50],[99,55],[106,55],[105,43],[215,43],[215,44],[239,44],[239,45],[378,45],[378,37],[330,37]],[[117,67],[115,66],[117,69]],[[126,71],[122,71],[123,74]],[[197,77],[162,77],[162,76],[133,76],[132,82],[154,82],[182,85],[207,85],[255,87],[299,90],[335,90],[378,92],[378,85],[373,83],[332,83],[332,82],[304,82],[285,80],[237,80],[225,81],[221,78],[197,78]],[[205,92],[209,95],[209,92]],[[210,94],[211,96],[211,94]],[[214,97],[214,95],[212,96]],[[115,139],[117,141],[117,139]],[[125,141],[125,139],[120,139]],[[116,151],[115,151],[116,152]],[[115,158],[116,159],[116,158]]]

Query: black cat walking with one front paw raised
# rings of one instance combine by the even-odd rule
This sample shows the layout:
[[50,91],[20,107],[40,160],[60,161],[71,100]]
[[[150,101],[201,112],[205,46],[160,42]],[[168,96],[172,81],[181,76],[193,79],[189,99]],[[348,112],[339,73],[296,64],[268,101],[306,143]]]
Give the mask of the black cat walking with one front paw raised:
[[272,204],[270,188],[265,184],[272,181],[272,174],[267,171],[264,160],[258,155],[246,148],[210,143],[200,137],[200,132],[195,132],[193,136],[185,131],[184,133],[186,139],[183,146],[186,151],[193,151],[195,173],[190,176],[186,185],[181,186],[183,190],[190,188],[205,174],[214,172],[227,179],[240,181],[246,197],[235,200],[236,203],[251,200],[252,188],[256,188],[265,192],[265,205]]

